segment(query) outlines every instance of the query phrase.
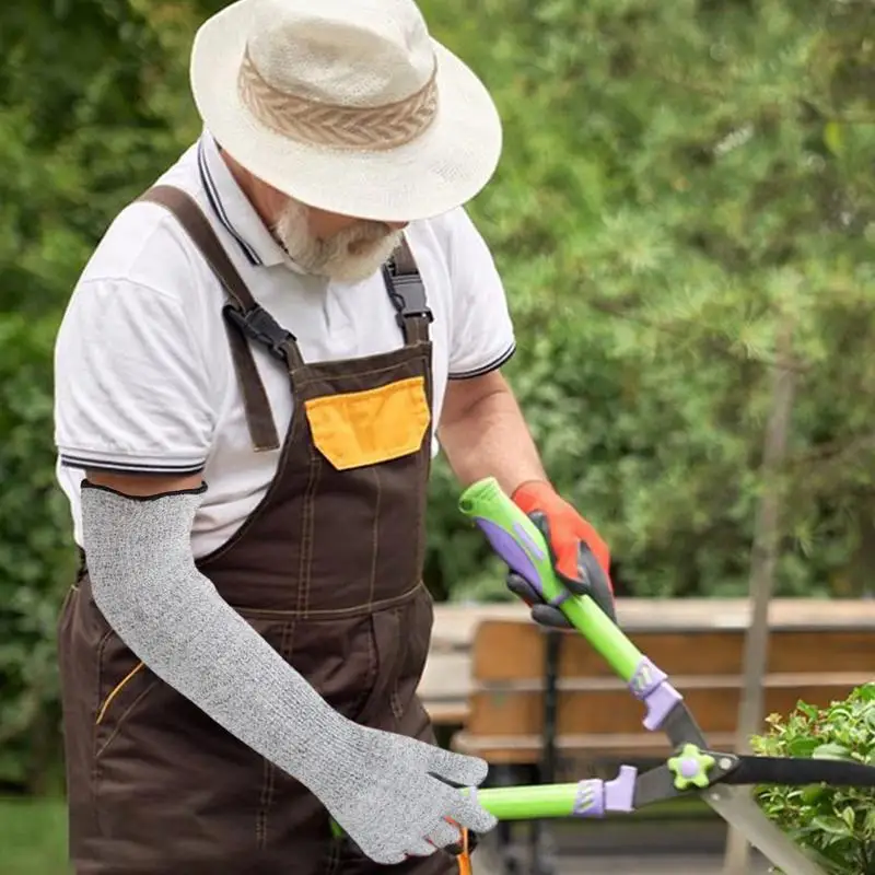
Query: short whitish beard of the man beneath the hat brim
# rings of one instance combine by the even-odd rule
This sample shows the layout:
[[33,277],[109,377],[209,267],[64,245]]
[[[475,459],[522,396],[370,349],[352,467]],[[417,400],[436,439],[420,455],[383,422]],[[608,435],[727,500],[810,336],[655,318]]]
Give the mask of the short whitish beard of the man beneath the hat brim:
[[293,200],[283,208],[275,233],[299,267],[338,282],[368,279],[380,270],[401,240],[400,231],[366,220],[320,240],[310,230],[307,208]]

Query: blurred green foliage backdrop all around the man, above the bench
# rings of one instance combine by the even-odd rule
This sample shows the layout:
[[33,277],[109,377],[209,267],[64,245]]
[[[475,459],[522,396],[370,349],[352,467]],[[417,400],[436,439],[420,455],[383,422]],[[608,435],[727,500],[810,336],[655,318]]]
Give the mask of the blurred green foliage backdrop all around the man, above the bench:
[[[224,3],[0,4],[0,804],[4,875],[59,875],[54,633],[73,573],[51,350],[115,212],[200,131],[190,40]],[[425,0],[505,152],[471,213],[508,373],[621,595],[747,591],[777,363],[797,388],[777,592],[872,594],[875,2]],[[777,349],[778,338],[784,347]],[[439,465],[428,581],[504,597]],[[23,800],[30,800],[24,802]]]

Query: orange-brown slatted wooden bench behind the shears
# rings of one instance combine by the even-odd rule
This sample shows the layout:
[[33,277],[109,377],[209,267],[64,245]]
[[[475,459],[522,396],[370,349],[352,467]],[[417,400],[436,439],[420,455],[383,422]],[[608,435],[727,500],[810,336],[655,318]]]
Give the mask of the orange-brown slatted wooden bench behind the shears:
[[[630,637],[668,674],[709,745],[733,750],[745,629],[650,629]],[[826,705],[875,676],[875,626],[773,629],[769,650],[767,714],[789,714],[800,699]],[[500,767],[490,771],[495,783],[551,783],[563,760],[588,760],[591,768],[606,759],[643,763],[670,754],[666,736],[642,725],[644,705],[575,633],[550,633],[525,619],[486,619],[470,658],[467,721],[452,744]],[[544,829],[532,825],[535,859],[527,871],[551,871],[539,851]],[[501,825],[498,833],[505,871],[517,871],[509,856],[510,827]]]

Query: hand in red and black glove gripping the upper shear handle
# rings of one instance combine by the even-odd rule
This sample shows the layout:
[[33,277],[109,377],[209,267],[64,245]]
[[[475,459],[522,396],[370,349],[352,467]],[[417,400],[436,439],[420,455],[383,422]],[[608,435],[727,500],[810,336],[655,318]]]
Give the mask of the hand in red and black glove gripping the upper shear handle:
[[[588,595],[616,622],[610,551],[593,526],[544,480],[530,480],[511,497],[544,535],[553,570],[574,595]],[[532,608],[532,619],[542,626],[569,629],[561,609],[545,602],[524,578],[511,571],[508,588]]]

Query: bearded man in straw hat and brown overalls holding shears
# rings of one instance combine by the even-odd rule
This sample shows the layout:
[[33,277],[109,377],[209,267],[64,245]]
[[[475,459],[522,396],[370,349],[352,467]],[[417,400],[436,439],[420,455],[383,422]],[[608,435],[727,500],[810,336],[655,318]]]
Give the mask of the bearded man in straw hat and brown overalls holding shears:
[[438,440],[611,610],[500,374],[512,325],[463,208],[498,115],[412,0],[240,0],[191,86],[202,137],[113,222],[57,340],[75,871],[453,872],[459,827],[495,821],[457,790],[486,763],[434,745],[416,695]]

